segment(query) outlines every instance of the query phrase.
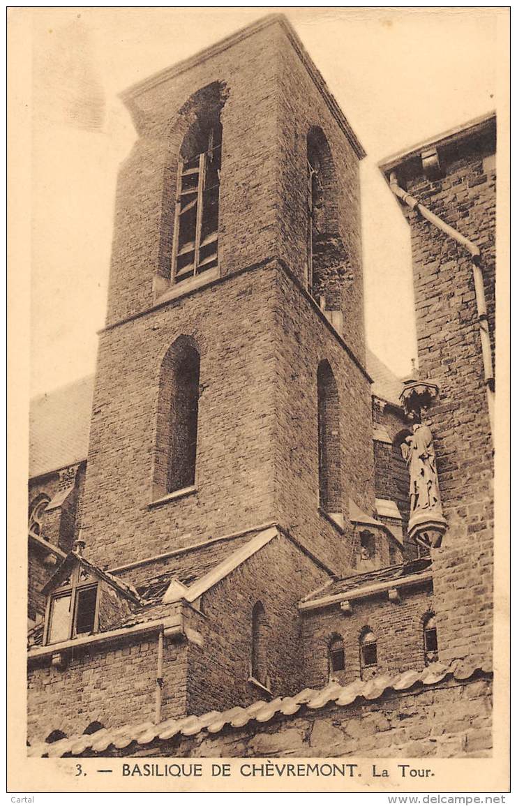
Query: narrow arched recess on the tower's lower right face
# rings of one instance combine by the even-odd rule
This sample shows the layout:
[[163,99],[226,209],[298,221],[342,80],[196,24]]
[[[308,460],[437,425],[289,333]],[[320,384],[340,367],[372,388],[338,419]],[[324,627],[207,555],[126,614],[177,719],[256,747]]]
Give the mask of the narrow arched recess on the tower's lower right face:
[[328,514],[342,513],[341,437],[337,383],[328,361],[321,361],[318,387],[318,459],[320,507]]

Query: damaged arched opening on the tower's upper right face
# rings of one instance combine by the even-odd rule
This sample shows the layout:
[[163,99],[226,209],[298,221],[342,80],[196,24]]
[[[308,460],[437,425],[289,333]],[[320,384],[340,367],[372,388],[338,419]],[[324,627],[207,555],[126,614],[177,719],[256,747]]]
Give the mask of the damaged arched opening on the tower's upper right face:
[[307,289],[329,310],[341,308],[344,251],[337,225],[337,179],[320,127],[307,135]]

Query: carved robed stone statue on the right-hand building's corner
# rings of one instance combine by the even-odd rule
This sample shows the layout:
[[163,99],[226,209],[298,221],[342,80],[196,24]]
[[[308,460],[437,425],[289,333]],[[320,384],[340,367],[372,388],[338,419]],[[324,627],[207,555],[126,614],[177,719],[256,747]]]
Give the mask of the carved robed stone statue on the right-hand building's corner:
[[409,469],[411,513],[420,513],[425,510],[441,512],[431,429],[421,423],[416,423],[413,426],[413,433],[402,443],[400,450]]

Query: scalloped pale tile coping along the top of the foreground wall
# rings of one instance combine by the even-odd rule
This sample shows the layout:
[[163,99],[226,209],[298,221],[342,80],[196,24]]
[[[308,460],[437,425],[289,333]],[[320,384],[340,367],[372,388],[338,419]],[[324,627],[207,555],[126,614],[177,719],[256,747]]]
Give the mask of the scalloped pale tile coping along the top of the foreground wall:
[[27,755],[39,758],[60,758],[81,754],[103,756],[111,755],[115,750],[129,749],[130,746],[133,746],[134,753],[137,746],[150,745],[151,742],[159,745],[160,742],[168,742],[173,737],[194,736],[201,731],[208,734],[218,733],[226,726],[242,728],[250,722],[268,722],[276,715],[290,717],[300,711],[307,713],[307,709],[316,711],[328,704],[346,708],[358,700],[378,700],[389,690],[405,692],[414,687],[432,686],[445,679],[464,681],[480,673],[490,674],[490,672],[489,668],[475,667],[465,662],[454,661],[449,666],[432,663],[422,671],[395,672],[392,675],[379,675],[368,681],[358,679],[346,686],[329,683],[321,689],[304,688],[295,696],[275,697],[271,702],[259,700],[247,708],[236,706],[222,713],[210,711],[201,717],[168,719],[158,724],[141,722],[111,729],[103,728],[97,733],[66,737],[53,744],[37,742],[27,747]]

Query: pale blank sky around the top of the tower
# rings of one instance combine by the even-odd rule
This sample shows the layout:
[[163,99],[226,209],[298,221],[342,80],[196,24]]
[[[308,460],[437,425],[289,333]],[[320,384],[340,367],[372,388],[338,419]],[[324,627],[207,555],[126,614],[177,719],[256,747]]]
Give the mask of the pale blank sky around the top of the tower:
[[[117,93],[274,10],[31,10],[31,395],[95,369],[118,166],[135,139]],[[506,102],[495,97],[502,10],[283,11],[368,155],[366,337],[403,375],[416,355],[409,233],[376,164]]]

